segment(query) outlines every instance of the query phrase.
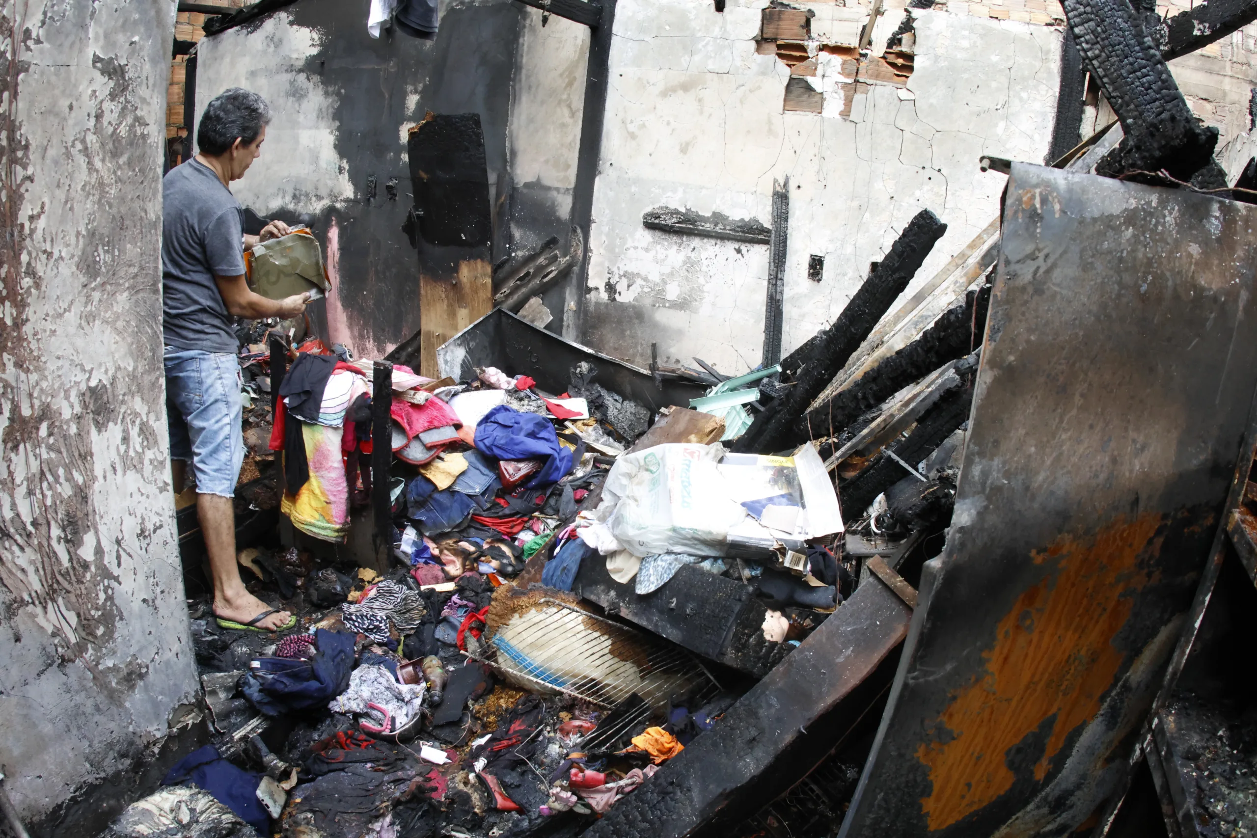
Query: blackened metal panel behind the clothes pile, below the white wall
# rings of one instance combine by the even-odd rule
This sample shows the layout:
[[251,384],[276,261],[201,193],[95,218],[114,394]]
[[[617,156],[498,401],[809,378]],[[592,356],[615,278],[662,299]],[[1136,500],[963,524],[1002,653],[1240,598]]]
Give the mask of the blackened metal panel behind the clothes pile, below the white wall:
[[[391,353],[390,361],[406,363],[410,344],[407,340],[397,347],[393,353],[400,354]],[[494,309],[446,340],[436,358],[441,374],[458,381],[475,378],[475,367],[500,367],[508,374],[530,376],[551,393],[566,392],[572,367],[588,361],[598,368],[593,383],[639,402],[651,413],[669,405],[689,405],[706,392],[703,384],[666,377],[656,387],[649,371],[538,329],[503,309]]]

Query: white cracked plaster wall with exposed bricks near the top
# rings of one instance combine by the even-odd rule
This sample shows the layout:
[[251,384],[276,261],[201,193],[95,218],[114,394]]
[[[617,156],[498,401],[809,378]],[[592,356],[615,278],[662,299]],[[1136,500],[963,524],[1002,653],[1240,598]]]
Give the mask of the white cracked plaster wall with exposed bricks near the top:
[[[782,112],[789,69],[755,53],[763,4],[620,0],[611,92],[595,190],[590,297],[581,339],[636,363],[727,374],[759,362],[768,248],[646,230],[665,205],[771,222],[773,181],[789,177],[784,346],[789,352],[842,310],[921,209],[949,226],[908,293],[998,212],[1006,178],[980,172],[994,155],[1041,161],[1056,109],[1056,26],[915,11],[915,70],[906,88],[874,84],[842,109],[837,57],[808,82],[823,114]],[[852,44],[867,9],[810,4],[815,52]],[[903,19],[882,15],[880,52]],[[807,278],[825,256],[821,283]]]

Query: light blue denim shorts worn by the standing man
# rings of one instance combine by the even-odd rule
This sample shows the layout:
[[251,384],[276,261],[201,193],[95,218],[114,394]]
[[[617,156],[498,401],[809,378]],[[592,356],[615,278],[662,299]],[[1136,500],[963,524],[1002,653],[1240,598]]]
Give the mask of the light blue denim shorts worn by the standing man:
[[244,462],[240,362],[228,352],[166,347],[170,456],[192,464],[196,491],[235,495]]

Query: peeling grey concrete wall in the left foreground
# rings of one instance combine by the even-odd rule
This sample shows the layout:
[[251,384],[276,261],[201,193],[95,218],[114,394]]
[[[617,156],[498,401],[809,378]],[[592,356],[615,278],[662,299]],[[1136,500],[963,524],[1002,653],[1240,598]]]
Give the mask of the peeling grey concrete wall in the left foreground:
[[195,696],[161,363],[173,20],[0,16],[0,766],[31,823],[143,763]]

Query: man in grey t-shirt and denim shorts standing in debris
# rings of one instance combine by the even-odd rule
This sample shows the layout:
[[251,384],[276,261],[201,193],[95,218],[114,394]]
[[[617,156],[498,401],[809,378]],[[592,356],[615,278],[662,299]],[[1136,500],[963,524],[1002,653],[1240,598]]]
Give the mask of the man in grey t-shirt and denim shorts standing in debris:
[[205,108],[196,129],[200,153],[162,180],[162,334],[166,413],[175,490],[196,475],[196,511],[214,575],[214,616],[224,628],[277,631],[295,622],[249,593],[235,555],[235,494],[244,461],[240,368],[231,315],[293,318],[299,294],[270,300],[245,283],[244,250],[289,232],[272,221],[259,236],[243,234],[244,210],[228,185],[261,153],[270,109],[256,93],[231,88]]

